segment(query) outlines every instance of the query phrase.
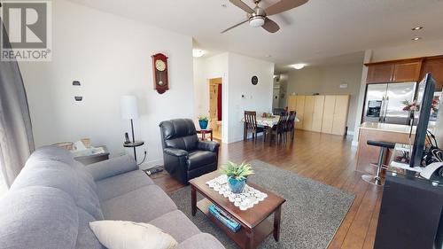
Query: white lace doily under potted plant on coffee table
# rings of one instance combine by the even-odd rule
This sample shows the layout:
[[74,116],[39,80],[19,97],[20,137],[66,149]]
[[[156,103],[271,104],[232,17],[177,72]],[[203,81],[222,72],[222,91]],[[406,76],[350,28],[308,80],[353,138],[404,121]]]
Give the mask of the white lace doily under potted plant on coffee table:
[[214,189],[214,191],[218,191],[224,198],[228,198],[230,202],[234,203],[234,206],[237,206],[243,211],[253,207],[268,197],[267,194],[257,191],[248,184],[245,184],[245,189],[242,193],[235,194],[231,192],[228,185],[227,175],[220,175],[213,180],[206,182],[206,184],[211,189]]

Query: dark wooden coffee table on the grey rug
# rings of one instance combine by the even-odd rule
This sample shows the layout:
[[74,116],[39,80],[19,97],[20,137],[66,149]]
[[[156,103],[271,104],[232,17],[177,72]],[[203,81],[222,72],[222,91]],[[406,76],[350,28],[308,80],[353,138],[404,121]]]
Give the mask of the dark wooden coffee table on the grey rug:
[[[286,200],[254,183],[248,182],[247,184],[249,186],[268,194],[268,197],[254,205],[252,208],[241,211],[237,206],[234,206],[233,203],[229,202],[228,198],[224,198],[217,191],[214,191],[206,185],[206,182],[219,175],[220,173],[213,172],[190,180],[192,215],[194,216],[197,213],[198,208],[203,214],[206,214],[211,222],[214,222],[214,224],[223,230],[228,237],[234,240],[240,248],[255,248],[271,233],[274,233],[274,238],[278,241],[280,237],[282,204],[284,204]],[[197,192],[205,197],[198,202]],[[207,207],[212,204],[219,206],[221,210],[233,217],[242,225],[242,229],[237,231],[237,233],[232,232],[212,214],[209,214]],[[274,224],[267,220],[271,214],[274,214]]]

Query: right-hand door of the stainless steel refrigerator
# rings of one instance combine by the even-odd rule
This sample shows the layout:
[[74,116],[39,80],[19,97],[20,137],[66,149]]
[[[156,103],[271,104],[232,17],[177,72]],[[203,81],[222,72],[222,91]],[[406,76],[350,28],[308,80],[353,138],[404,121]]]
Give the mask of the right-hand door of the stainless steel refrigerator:
[[388,84],[385,103],[386,123],[409,124],[409,113],[403,111],[404,101],[411,102],[416,92],[416,82]]

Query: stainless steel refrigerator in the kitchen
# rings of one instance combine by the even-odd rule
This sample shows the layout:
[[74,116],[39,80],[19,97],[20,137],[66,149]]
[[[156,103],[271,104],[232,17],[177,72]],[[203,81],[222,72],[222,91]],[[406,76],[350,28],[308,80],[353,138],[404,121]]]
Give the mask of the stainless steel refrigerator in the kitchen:
[[410,117],[403,111],[403,102],[412,102],[415,92],[416,82],[369,84],[363,121],[408,125]]

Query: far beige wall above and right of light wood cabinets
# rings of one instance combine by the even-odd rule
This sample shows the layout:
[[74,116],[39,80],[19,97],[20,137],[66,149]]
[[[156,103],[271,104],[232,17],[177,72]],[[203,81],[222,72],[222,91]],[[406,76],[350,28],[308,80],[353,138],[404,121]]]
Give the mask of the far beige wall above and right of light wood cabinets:
[[[360,92],[361,66],[361,63],[354,63],[336,66],[312,66],[291,71],[288,75],[287,94],[349,94],[351,99],[347,127],[349,133],[352,134]],[[340,89],[340,84],[343,83],[347,84],[346,89]]]

